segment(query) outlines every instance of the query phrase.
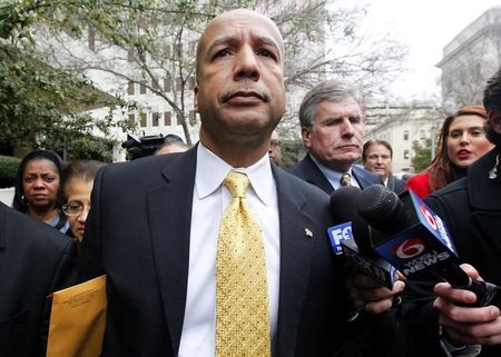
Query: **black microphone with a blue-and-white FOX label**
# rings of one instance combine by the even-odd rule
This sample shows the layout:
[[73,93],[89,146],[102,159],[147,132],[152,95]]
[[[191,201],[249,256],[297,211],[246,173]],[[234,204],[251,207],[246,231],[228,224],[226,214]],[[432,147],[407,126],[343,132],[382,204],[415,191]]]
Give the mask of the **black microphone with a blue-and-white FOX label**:
[[[352,220],[357,219],[356,202],[361,189],[355,186],[345,186],[335,190],[331,196],[331,214],[336,226],[327,229],[331,245],[336,255],[346,257],[348,267],[371,276],[379,284],[393,288],[396,281],[396,269],[380,256],[364,255],[353,239]],[[364,232],[356,232],[363,235]]]

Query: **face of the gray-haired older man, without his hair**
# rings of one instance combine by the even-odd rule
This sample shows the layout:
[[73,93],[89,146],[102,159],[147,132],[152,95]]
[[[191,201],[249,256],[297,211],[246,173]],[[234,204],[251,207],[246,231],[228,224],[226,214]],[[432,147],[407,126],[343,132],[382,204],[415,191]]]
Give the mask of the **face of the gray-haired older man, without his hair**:
[[362,153],[365,123],[353,98],[322,101],[313,128],[302,128],[303,142],[315,159],[336,171],[347,171]]

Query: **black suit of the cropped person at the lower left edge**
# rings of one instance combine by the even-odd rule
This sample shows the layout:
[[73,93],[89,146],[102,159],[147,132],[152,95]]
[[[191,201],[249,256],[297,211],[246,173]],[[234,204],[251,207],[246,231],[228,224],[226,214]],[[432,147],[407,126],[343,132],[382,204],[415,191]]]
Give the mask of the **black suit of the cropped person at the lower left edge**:
[[0,356],[43,353],[47,296],[75,282],[75,254],[72,239],[0,202]]

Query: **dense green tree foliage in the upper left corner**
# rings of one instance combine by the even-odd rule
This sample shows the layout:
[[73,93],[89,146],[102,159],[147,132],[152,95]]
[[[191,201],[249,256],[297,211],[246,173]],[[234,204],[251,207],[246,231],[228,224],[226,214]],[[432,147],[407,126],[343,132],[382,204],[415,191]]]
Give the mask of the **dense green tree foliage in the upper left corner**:
[[[37,28],[59,26],[59,31],[69,26],[69,19],[55,20],[57,7],[58,2],[14,0],[0,6],[0,37],[6,39],[0,42],[0,141],[13,147],[58,150],[52,140],[58,137],[67,139],[68,148],[78,147],[78,142],[70,145],[72,138],[90,136],[97,125],[84,110],[128,105],[100,92],[81,73],[48,65],[37,51],[35,23]],[[97,126],[105,136],[112,127],[129,129],[130,123],[108,120]],[[68,137],[68,131],[72,136]],[[104,157],[109,156],[106,151],[101,152]]]

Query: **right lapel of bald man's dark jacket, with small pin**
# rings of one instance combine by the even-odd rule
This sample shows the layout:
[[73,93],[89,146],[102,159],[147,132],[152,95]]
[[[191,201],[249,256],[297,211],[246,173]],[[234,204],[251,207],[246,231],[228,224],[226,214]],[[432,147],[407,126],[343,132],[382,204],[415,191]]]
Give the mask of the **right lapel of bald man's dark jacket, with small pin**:
[[278,168],[273,168],[273,173],[277,186],[281,225],[277,350],[278,356],[294,356],[314,250],[314,239],[308,237],[307,230],[313,230],[315,224],[303,211],[307,202],[294,181]]

